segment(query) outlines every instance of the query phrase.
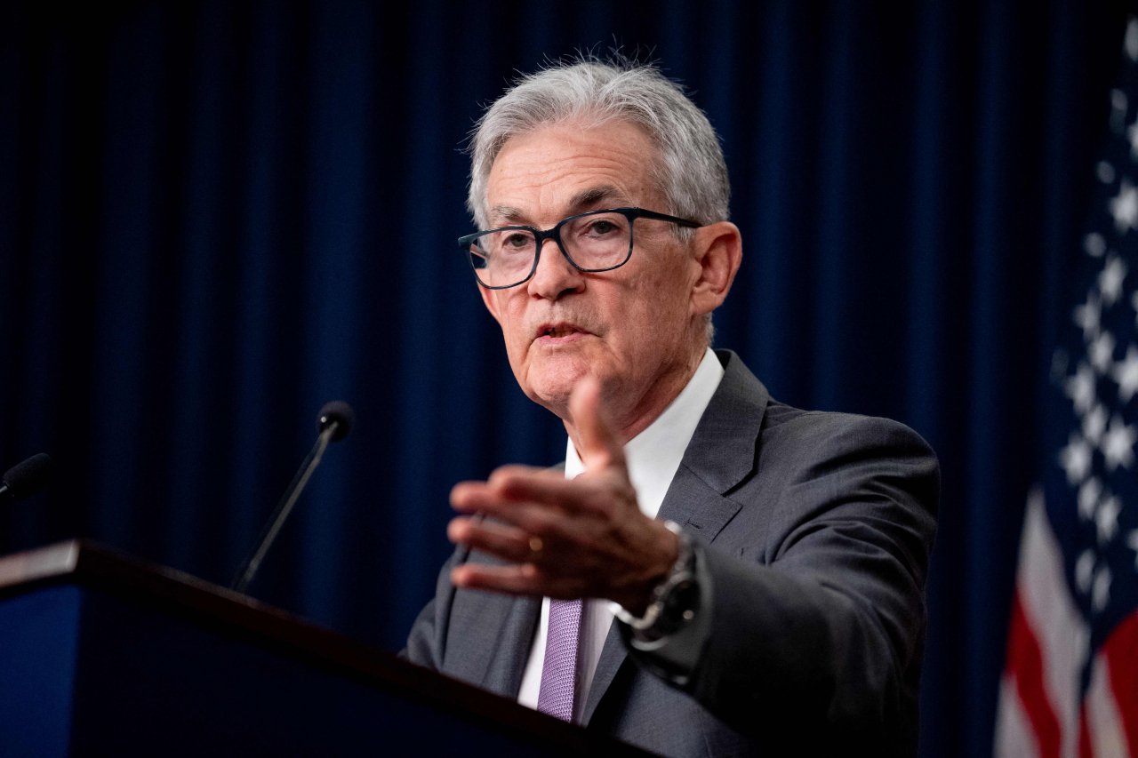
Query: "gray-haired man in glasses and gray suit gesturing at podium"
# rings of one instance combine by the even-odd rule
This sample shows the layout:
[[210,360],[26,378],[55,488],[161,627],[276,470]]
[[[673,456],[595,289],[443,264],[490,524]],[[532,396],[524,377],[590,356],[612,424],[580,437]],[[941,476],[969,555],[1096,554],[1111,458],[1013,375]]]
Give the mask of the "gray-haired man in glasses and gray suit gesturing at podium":
[[558,65],[472,158],[460,246],[569,440],[454,487],[405,654],[666,756],[913,755],[935,456],[709,348],[742,242],[706,116],[653,67]]

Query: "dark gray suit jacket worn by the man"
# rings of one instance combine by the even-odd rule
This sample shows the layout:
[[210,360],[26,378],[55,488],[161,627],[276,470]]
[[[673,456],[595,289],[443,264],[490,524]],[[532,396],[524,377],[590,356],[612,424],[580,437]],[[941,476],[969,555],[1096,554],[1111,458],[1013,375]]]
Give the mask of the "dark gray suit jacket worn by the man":
[[[659,518],[702,545],[711,632],[683,689],[610,631],[588,728],[663,756],[916,752],[937,458],[885,419],[770,399],[734,353]],[[451,569],[404,654],[517,698],[541,600],[455,590]]]

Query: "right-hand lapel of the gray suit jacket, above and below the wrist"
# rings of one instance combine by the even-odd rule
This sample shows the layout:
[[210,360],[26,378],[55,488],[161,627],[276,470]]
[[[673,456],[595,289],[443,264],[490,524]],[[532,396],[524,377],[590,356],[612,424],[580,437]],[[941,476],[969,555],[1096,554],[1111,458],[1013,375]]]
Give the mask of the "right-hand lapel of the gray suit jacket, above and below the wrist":
[[[724,495],[754,470],[754,443],[770,396],[737,355],[717,351],[725,372],[700,418],[692,442],[660,504],[659,519],[684,526],[710,543],[739,512],[740,503]],[[622,666],[630,666],[616,621],[604,638],[601,659],[582,714],[588,724]],[[520,679],[519,679],[520,682]]]

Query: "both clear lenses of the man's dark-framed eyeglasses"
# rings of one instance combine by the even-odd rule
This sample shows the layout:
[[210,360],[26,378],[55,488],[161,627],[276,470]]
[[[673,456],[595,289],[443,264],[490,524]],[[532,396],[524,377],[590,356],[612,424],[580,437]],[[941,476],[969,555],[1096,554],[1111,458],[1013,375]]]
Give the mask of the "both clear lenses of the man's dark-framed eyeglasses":
[[[570,219],[561,226],[561,244],[579,269],[599,271],[622,264],[632,253],[632,222],[619,213]],[[489,231],[470,244],[470,261],[486,287],[525,281],[534,267],[537,238],[525,229]]]

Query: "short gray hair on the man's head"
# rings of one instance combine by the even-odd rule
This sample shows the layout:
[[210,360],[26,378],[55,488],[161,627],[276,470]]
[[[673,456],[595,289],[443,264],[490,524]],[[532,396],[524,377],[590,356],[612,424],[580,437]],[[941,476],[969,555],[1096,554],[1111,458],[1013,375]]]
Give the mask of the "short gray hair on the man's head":
[[[478,228],[489,228],[486,186],[506,140],[538,126],[611,121],[640,126],[657,146],[652,175],[667,213],[703,224],[727,221],[731,183],[719,138],[683,86],[652,64],[582,56],[522,76],[478,120],[470,137],[467,198]],[[711,333],[708,314],[709,344]]]

